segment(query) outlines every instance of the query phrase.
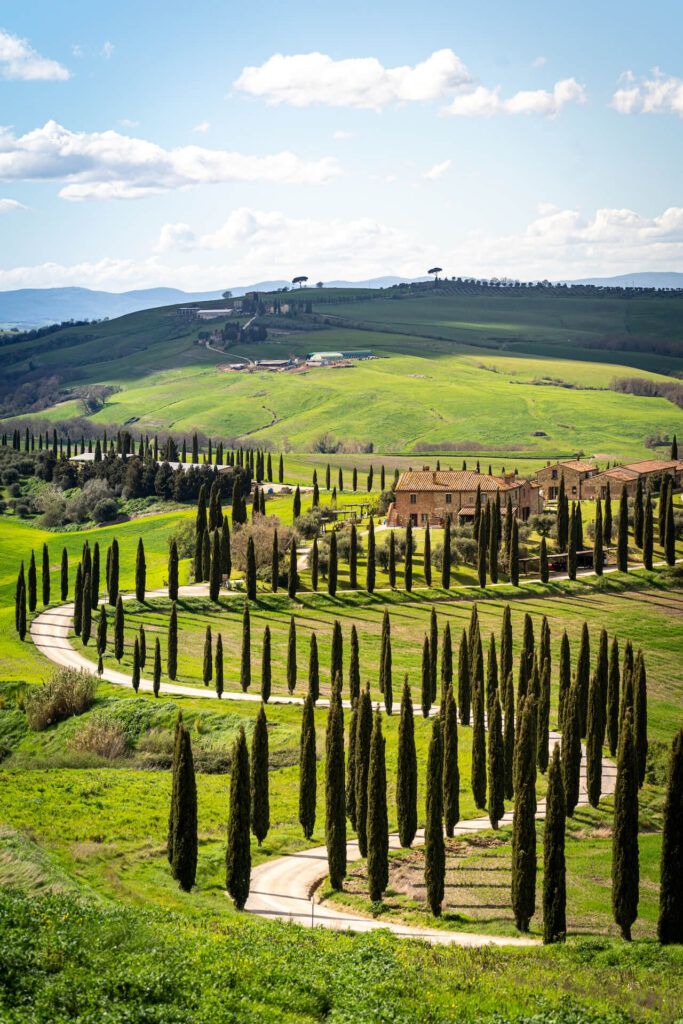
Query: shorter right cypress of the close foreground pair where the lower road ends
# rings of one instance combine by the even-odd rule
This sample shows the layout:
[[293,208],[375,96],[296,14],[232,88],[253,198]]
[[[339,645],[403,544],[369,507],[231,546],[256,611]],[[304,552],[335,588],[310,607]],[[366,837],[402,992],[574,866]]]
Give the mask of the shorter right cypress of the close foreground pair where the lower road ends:
[[546,825],[543,839],[543,941],[563,942],[566,937],[566,871],[564,827],[566,802],[560,748],[555,743],[548,772]]

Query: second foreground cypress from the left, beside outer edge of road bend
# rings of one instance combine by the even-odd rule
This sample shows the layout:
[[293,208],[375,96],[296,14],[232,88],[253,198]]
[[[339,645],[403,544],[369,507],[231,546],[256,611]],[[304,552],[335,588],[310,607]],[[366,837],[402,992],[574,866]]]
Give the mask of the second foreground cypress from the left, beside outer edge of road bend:
[[230,811],[227,819],[227,850],[225,853],[225,888],[238,910],[243,910],[249,898],[251,877],[251,784],[249,752],[244,726],[240,726],[232,749],[230,778]]

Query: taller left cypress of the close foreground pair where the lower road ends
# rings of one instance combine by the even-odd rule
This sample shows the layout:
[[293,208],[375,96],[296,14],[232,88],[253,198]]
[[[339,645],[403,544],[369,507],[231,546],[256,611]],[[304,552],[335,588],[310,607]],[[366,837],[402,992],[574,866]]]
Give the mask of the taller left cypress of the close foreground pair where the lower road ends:
[[519,729],[515,810],[512,822],[512,909],[520,932],[536,910],[536,700],[524,700]]

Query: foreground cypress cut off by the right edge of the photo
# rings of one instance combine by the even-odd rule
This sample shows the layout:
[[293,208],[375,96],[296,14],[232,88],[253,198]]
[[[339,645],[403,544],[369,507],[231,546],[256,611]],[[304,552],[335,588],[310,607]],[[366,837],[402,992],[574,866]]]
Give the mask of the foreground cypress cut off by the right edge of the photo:
[[683,943],[683,728],[674,736],[664,804],[659,919],[663,945]]

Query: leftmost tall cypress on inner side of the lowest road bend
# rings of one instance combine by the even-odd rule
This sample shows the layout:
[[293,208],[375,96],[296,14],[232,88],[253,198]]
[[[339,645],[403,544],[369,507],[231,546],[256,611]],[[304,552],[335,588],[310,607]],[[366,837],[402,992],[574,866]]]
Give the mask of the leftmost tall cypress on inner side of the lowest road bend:
[[328,713],[325,760],[325,841],[330,885],[341,889],[346,874],[346,792],[344,786],[344,716],[339,690],[333,687]]

